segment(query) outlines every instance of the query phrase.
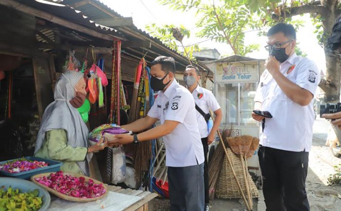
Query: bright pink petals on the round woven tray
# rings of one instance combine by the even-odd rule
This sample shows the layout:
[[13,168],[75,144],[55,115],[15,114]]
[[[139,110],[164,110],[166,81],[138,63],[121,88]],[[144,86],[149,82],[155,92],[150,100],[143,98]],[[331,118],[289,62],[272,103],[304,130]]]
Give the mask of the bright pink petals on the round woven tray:
[[95,198],[100,197],[107,192],[102,183],[95,183],[92,179],[86,179],[82,176],[73,176],[61,171],[35,177],[34,180],[48,191],[59,192],[63,195],[76,198]]

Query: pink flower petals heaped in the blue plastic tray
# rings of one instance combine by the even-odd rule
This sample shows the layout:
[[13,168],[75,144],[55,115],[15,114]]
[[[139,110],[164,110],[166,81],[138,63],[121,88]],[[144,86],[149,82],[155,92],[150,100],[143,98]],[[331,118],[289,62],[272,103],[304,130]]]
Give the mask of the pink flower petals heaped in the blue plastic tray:
[[48,165],[49,164],[44,161],[27,160],[25,158],[20,158],[17,160],[8,161],[5,164],[0,164],[0,171],[5,171],[8,173],[20,173],[43,168]]

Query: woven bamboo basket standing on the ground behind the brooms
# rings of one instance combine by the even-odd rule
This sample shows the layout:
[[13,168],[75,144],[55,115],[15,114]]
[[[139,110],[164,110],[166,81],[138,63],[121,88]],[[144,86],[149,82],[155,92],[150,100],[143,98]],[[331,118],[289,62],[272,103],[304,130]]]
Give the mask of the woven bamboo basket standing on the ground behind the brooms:
[[[231,149],[228,148],[227,153],[231,158],[234,171],[236,172],[238,181],[240,185],[242,186],[243,192],[246,192],[242,162],[237,155],[232,153]],[[255,183],[252,181],[251,175],[248,178],[250,181],[250,190],[251,190],[252,197],[257,198],[258,197],[257,187]],[[241,193],[239,192],[239,189],[236,184],[236,180],[232,174],[231,168],[228,165],[226,156],[224,157],[224,162],[223,162],[222,169],[219,175],[219,180],[218,180],[217,188],[215,191],[215,195],[217,198],[225,198],[225,199],[241,198]]]

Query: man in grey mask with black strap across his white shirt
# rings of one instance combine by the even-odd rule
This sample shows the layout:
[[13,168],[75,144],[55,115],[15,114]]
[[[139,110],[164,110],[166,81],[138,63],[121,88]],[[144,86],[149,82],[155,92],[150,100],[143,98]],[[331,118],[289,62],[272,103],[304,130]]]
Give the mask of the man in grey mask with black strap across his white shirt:
[[[213,96],[213,93],[205,88],[199,86],[198,81],[200,79],[200,73],[198,68],[188,65],[184,73],[184,81],[190,93],[192,93],[195,101],[196,118],[198,121],[199,132],[201,135],[201,142],[204,147],[205,165],[204,165],[204,184],[205,184],[205,211],[209,211],[209,184],[208,184],[208,145],[210,145],[214,139],[216,131],[219,129],[220,121],[223,117],[222,110],[218,104],[217,99]],[[215,119],[213,127],[208,133],[208,119],[210,117],[209,110],[214,112]]]

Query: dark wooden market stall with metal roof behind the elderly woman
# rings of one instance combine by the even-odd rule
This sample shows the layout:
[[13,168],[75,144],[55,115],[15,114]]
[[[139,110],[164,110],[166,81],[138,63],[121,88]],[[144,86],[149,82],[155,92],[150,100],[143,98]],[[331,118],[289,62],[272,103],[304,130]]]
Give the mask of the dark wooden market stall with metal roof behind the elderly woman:
[[[187,58],[136,28],[132,18],[120,16],[98,0],[1,0],[0,14],[4,29],[0,32],[0,71],[5,76],[0,80],[0,141],[6,146],[0,149],[0,161],[33,155],[39,120],[54,100],[54,85],[70,51],[75,50],[81,63],[87,60],[88,67],[103,58],[103,71],[111,84],[114,43],[122,41],[121,79],[127,96],[132,95],[142,57],[147,65],[157,56],[173,57],[178,80],[188,65]],[[205,65],[195,65],[212,77]],[[108,122],[110,86],[104,88],[104,95],[104,107],[91,107],[90,130]],[[130,100],[127,97],[128,104]],[[100,171],[93,173],[111,183],[106,178],[107,153],[96,155]]]

